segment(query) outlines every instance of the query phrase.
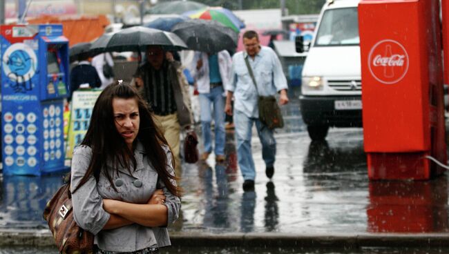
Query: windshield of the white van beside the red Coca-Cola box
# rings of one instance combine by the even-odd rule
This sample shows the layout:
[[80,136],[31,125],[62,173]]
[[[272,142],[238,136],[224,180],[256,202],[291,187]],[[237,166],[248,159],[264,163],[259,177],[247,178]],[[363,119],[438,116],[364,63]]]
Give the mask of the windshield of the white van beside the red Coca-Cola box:
[[359,45],[357,8],[325,10],[316,35],[315,46]]

